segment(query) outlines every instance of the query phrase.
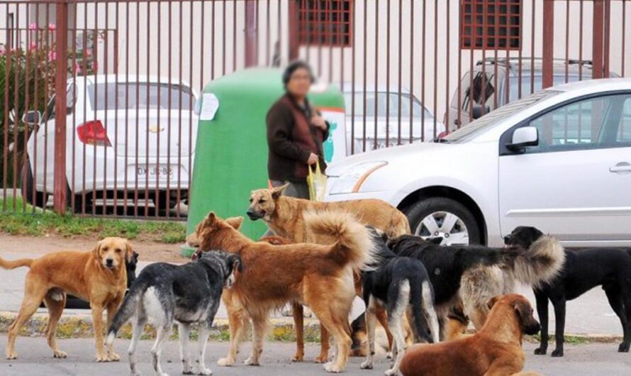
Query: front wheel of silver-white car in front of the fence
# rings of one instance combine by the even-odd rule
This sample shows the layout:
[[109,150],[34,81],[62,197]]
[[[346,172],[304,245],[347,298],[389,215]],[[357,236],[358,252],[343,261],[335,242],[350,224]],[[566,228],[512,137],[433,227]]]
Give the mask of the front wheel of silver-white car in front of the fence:
[[442,237],[442,245],[480,244],[478,223],[471,211],[458,201],[433,197],[406,210],[412,233],[422,238]]

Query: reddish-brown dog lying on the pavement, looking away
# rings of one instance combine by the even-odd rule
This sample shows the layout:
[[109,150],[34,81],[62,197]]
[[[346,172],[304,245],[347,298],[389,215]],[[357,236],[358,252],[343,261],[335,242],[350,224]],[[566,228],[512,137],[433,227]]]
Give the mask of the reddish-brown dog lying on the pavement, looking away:
[[539,323],[525,297],[508,294],[488,302],[491,312],[473,336],[455,341],[413,345],[401,361],[404,376],[513,375],[525,363],[524,334],[536,334]]

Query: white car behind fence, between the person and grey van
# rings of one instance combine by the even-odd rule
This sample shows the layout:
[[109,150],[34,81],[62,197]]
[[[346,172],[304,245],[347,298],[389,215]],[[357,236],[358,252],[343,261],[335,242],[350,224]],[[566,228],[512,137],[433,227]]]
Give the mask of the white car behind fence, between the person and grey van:
[[365,150],[375,148],[375,131],[377,149],[398,145],[399,137],[401,143],[409,143],[410,128],[413,142],[445,136],[445,126],[406,87],[401,87],[399,94],[398,86],[378,86],[375,89],[374,85],[368,84],[365,96],[363,84],[355,84],[354,91],[352,88],[352,83],[343,85],[347,153],[350,154],[351,150],[354,154],[364,152],[364,125]]

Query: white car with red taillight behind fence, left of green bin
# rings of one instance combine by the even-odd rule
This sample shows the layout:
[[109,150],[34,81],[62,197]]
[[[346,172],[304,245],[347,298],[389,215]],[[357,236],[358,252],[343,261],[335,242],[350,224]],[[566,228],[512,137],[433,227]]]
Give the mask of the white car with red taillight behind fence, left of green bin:
[[[116,195],[123,206],[126,191],[133,206],[136,189],[139,206],[154,206],[159,197],[159,209],[171,209],[178,196],[186,200],[197,135],[197,94],[189,84],[112,74],[70,79],[67,88],[68,204],[74,194],[77,211],[84,204],[112,206]],[[22,194],[36,206],[45,205],[53,190],[54,109],[53,98],[44,114],[30,111],[23,118],[34,129]]]

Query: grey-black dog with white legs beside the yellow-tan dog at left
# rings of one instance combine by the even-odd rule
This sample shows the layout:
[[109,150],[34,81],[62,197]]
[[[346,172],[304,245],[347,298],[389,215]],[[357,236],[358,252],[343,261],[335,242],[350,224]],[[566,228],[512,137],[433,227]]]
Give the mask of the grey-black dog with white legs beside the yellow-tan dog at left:
[[[136,370],[136,345],[145,323],[155,324],[157,334],[151,348],[153,367],[156,375],[164,375],[160,367],[162,341],[176,321],[179,324],[182,373],[211,375],[204,363],[206,341],[219,308],[221,292],[232,287],[235,270],[242,270],[239,256],[220,251],[202,253],[197,260],[185,265],[156,262],[145,267],[116,312],[108,328],[107,343],[111,344],[121,326],[132,319],[129,367],[132,375],[140,375]],[[189,350],[189,331],[194,323],[199,324],[195,365],[191,363]]]

